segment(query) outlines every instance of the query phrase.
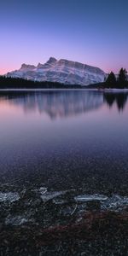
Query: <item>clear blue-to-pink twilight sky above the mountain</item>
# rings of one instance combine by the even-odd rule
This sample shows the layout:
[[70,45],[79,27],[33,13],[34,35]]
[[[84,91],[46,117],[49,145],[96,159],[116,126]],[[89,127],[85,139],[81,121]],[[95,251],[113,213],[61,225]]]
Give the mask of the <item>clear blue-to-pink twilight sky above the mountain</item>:
[[0,74],[50,56],[128,70],[127,10],[128,0],[0,0]]

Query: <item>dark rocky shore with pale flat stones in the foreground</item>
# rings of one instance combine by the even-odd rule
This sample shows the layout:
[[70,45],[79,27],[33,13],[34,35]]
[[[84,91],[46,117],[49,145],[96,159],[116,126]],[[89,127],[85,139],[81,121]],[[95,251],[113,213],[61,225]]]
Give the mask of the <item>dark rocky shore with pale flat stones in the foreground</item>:
[[0,255],[127,255],[128,197],[46,187],[0,191]]

